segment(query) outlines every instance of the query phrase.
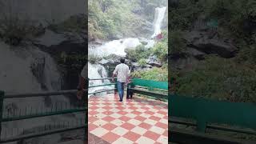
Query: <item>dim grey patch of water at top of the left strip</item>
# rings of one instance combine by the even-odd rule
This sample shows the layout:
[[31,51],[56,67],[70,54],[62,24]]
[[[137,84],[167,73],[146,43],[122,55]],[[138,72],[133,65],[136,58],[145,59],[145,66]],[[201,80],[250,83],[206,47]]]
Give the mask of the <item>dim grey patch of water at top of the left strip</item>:
[[86,14],[87,2],[82,0],[8,0],[1,1],[2,14],[18,14],[44,26],[58,23],[75,14]]

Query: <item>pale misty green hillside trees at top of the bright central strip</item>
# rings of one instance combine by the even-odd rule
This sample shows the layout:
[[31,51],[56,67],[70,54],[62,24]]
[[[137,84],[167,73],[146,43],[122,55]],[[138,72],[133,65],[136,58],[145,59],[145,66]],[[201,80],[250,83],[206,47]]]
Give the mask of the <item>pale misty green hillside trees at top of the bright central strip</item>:
[[166,3],[166,0],[89,0],[89,40],[133,34],[144,25],[143,19],[154,18],[155,7]]

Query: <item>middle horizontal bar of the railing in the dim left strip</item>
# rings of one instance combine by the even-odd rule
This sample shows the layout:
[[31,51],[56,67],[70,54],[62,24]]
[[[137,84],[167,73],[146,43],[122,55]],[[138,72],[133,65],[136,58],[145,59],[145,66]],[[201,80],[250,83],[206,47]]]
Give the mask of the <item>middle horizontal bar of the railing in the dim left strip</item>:
[[57,112],[46,112],[43,114],[23,115],[23,116],[12,117],[12,118],[2,118],[2,122],[18,121],[18,120],[29,119],[29,118],[40,118],[40,117],[47,117],[47,116],[59,115],[59,114],[78,113],[86,110],[87,109],[84,108],[84,109],[74,109],[74,110],[60,110]]

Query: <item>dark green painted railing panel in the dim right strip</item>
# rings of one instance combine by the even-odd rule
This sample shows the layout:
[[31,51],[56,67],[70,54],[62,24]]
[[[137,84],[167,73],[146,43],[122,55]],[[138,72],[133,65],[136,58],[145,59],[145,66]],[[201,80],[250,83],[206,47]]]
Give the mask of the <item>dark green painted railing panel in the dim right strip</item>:
[[[256,105],[243,102],[221,102],[204,98],[190,98],[177,94],[169,95],[169,116],[177,118],[192,118],[196,120],[197,130],[205,132],[206,128],[216,128],[211,124],[226,124],[256,130]],[[226,129],[220,127],[219,129]],[[232,130],[246,133],[246,130]],[[256,131],[248,132],[256,134]]]

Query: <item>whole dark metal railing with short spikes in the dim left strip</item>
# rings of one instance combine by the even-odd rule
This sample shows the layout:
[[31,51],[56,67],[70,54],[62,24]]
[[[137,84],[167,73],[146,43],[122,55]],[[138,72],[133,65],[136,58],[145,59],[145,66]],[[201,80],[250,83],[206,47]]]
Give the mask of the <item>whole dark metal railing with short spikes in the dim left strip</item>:
[[[61,94],[75,94],[77,90],[62,90],[62,91],[54,91],[54,92],[42,92],[42,93],[32,93],[32,94],[5,94],[3,91],[0,91],[0,143],[5,142],[16,142],[19,140],[24,140],[27,138],[36,138],[42,137],[49,134],[58,134],[65,131],[70,130],[80,130],[85,129],[86,134],[86,126],[87,126],[87,107],[86,106],[71,106],[67,102],[58,102],[55,105],[50,106],[50,110],[47,110],[46,107],[41,106],[41,108],[35,108],[28,106],[25,107],[25,110],[19,109],[14,110],[10,113],[9,110],[5,109],[4,101],[15,99],[15,98],[36,98],[36,97],[48,97],[48,96],[58,96]],[[34,112],[35,111],[35,112]],[[6,113],[6,114],[5,114]],[[42,118],[54,115],[61,115],[61,114],[70,114],[70,113],[82,113],[84,116],[83,118],[76,118],[70,121],[60,121],[54,122],[52,124],[44,124],[41,126],[41,130],[35,129],[30,130],[28,132],[24,128],[16,127],[16,128],[9,128],[5,131],[2,130],[2,124],[4,122],[14,122],[14,121],[21,121],[33,118]],[[9,133],[8,133],[9,131]],[[37,131],[37,132],[35,132]],[[8,134],[7,134],[8,133]],[[10,136],[8,136],[10,135]]]

